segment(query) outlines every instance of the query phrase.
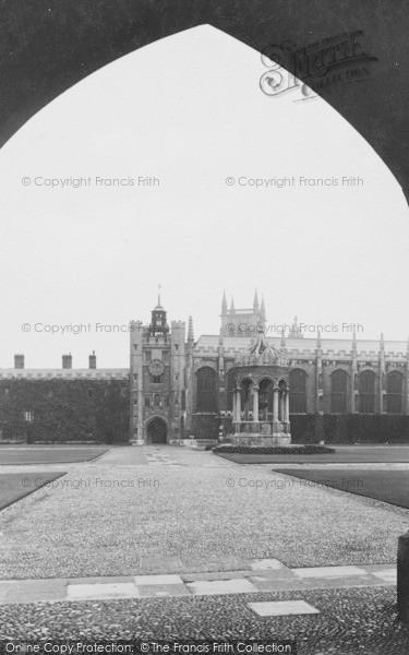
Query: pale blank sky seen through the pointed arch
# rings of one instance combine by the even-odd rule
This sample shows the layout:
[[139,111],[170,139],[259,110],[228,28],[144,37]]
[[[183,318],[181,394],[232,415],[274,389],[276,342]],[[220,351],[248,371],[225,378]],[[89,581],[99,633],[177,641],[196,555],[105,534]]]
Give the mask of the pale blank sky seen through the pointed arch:
[[252,48],[195,27],[89,75],[1,148],[0,367],[72,353],[81,368],[92,350],[129,366],[128,322],[149,321],[159,283],[196,338],[218,333],[224,289],[245,308],[257,288],[267,324],[407,340],[398,182],[324,99],[263,93],[265,72]]

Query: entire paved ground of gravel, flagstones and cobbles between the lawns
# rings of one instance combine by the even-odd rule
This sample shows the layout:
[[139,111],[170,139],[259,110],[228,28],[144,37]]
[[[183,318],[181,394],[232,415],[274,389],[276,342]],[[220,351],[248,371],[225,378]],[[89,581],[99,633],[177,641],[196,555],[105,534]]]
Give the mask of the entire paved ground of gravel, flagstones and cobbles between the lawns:
[[171,446],[63,468],[0,514],[0,638],[57,639],[57,624],[67,639],[278,634],[315,654],[409,644],[394,606],[408,510]]

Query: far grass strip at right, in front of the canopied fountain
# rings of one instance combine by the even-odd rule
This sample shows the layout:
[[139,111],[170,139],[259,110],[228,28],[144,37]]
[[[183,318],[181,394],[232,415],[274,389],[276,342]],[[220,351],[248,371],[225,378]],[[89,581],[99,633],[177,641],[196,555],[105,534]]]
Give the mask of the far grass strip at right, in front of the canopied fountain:
[[217,453],[237,464],[377,464],[409,462],[409,445],[336,445],[333,454],[325,455],[244,455]]

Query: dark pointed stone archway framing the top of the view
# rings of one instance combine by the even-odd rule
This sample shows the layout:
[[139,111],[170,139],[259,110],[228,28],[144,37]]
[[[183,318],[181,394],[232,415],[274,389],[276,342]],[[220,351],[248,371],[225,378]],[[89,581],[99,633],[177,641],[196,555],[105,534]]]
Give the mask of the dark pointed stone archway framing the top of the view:
[[[210,24],[264,50],[299,47],[349,31],[377,59],[373,79],[326,100],[389,166],[409,195],[405,0],[46,0],[2,2],[0,145],[36,111],[103,66],[155,40]],[[293,72],[293,71],[292,71]]]

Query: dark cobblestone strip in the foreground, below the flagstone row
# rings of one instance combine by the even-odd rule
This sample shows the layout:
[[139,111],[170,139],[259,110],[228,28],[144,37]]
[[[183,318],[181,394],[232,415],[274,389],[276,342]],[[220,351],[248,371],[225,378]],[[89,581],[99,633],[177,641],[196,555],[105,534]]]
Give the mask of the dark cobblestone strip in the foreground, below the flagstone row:
[[[318,614],[261,616],[252,607],[282,602],[303,602]],[[409,652],[409,631],[397,622],[395,590],[388,586],[32,603],[0,611],[0,639],[28,642],[296,640],[299,655]]]

